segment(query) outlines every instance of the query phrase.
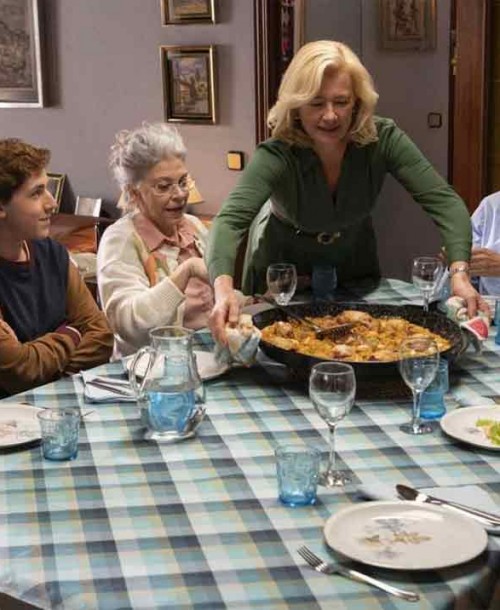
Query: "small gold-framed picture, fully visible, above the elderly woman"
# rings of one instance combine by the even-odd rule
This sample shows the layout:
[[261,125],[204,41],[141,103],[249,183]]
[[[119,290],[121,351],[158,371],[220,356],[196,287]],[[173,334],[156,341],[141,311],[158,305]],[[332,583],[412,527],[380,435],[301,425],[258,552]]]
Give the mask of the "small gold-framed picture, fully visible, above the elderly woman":
[[215,123],[215,48],[160,47],[165,120]]

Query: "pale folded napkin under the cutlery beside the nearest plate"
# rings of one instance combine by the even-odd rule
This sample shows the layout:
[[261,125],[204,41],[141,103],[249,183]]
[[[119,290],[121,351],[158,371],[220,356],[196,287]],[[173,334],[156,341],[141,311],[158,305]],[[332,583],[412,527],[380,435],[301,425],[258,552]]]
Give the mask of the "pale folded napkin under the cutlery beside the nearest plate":
[[[494,502],[490,494],[478,485],[463,485],[462,487],[425,487],[419,489],[424,494],[435,496],[440,500],[458,502],[464,506],[478,508],[490,513],[499,514],[500,507]],[[396,492],[396,485],[387,483],[369,483],[360,485],[357,489],[358,495],[365,500],[399,500]],[[416,503],[419,504],[418,502]],[[425,504],[421,504],[425,506]],[[500,535],[500,528],[488,528],[485,530],[489,534]]]

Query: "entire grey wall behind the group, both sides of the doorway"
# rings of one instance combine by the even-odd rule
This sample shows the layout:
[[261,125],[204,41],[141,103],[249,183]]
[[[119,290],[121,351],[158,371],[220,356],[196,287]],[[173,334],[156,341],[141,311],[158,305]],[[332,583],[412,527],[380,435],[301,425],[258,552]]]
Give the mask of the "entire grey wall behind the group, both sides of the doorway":
[[[347,1],[308,0],[319,7],[321,36],[342,39],[350,32],[352,38],[359,31],[358,51],[380,92],[380,114],[396,119],[446,174],[450,0],[437,3],[436,50],[420,53],[380,51],[378,2],[349,0],[346,5]],[[0,134],[48,146],[53,151],[51,170],[67,174],[75,194],[113,201],[118,193],[106,167],[113,135],[144,119],[163,118],[158,46],[215,44],[219,124],[181,124],[180,130],[189,149],[189,167],[207,201],[198,209],[216,212],[240,175],[226,169],[226,151],[242,150],[248,156],[254,149],[252,0],[219,0],[216,25],[168,28],[161,27],[159,0],[45,3],[46,63],[55,103],[40,110],[0,109]],[[339,19],[343,6],[349,6],[360,23],[351,27]],[[428,112],[442,114],[441,129],[427,127]],[[375,224],[386,275],[408,278],[411,258],[439,247],[432,223],[391,179],[377,206]]]

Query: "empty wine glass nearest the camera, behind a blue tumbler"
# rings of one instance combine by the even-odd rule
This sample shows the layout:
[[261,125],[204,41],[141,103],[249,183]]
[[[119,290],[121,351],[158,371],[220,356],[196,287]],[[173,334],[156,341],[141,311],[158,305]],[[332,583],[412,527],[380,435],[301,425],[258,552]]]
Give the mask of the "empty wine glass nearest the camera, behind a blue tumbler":
[[355,393],[356,377],[350,364],[321,362],[312,367],[309,397],[330,431],[328,466],[318,481],[324,487],[338,487],[350,481],[349,476],[335,469],[335,428],[351,410]]

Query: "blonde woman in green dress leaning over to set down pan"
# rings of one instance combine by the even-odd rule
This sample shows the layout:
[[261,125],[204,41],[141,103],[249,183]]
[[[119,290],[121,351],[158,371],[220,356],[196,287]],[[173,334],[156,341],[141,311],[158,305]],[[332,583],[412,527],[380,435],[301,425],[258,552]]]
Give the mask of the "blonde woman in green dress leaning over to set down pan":
[[470,315],[488,310],[469,280],[471,224],[465,204],[393,120],[374,116],[372,78],[346,45],[315,41],[292,59],[261,143],[214,220],[207,266],[215,290],[210,326],[225,342],[235,324],[236,252],[250,228],[243,292],[266,290],[266,269],[300,274],[336,267],[339,283],[379,277],[371,212],[387,173],[429,214],[443,239],[455,295]]

